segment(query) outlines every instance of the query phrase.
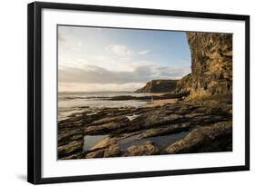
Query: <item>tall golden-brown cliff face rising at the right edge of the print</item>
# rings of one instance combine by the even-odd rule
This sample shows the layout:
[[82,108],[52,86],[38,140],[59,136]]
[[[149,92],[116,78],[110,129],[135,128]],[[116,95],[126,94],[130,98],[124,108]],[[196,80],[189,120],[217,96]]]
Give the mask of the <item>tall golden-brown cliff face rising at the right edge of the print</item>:
[[232,34],[187,33],[191,73],[177,84],[178,92],[232,93]]

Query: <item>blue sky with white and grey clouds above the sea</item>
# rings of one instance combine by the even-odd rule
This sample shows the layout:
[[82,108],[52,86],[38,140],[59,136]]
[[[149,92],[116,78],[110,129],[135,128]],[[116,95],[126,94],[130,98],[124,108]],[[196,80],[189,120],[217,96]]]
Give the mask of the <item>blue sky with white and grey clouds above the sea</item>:
[[133,92],[190,73],[184,32],[58,25],[59,92]]

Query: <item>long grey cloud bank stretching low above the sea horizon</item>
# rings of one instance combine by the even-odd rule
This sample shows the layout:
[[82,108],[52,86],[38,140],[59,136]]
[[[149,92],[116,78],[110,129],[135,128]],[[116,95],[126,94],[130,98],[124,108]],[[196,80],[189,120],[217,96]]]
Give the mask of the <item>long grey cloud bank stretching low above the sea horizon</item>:
[[152,79],[179,79],[189,73],[188,68],[167,66],[138,66],[133,71],[109,71],[96,65],[84,65],[83,68],[65,67],[58,69],[59,83],[146,83]]

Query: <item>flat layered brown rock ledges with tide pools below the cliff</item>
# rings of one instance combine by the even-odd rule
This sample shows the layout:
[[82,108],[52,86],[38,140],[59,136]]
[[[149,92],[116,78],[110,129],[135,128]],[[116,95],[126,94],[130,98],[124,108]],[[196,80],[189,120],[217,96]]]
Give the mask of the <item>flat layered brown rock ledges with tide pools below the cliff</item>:
[[[231,94],[80,110],[58,122],[61,160],[232,151]],[[85,136],[104,138],[85,151]]]

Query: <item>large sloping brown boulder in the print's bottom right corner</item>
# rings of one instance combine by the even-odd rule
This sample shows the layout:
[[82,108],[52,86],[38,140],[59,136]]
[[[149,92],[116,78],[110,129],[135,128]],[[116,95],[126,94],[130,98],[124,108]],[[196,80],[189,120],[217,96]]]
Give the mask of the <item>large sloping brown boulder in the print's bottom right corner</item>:
[[232,122],[217,122],[197,127],[192,132],[174,142],[168,153],[225,152],[232,149]]

